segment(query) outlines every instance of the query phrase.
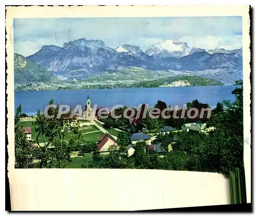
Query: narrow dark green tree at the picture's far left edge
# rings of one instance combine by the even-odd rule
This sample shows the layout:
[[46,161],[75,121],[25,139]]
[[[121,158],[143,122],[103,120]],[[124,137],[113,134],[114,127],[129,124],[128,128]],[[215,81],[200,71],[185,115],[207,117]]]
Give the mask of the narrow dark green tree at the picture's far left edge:
[[33,167],[33,148],[27,140],[25,128],[19,124],[22,106],[19,105],[14,116],[14,145],[15,145],[15,167],[30,168]]

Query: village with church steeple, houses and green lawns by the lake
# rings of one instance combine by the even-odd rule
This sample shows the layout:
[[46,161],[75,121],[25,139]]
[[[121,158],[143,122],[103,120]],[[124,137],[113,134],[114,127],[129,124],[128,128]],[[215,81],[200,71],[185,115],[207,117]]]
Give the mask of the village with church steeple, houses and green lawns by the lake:
[[[25,113],[20,115],[20,124],[25,127],[27,140],[32,143],[33,148],[38,148],[38,145],[45,145],[40,136],[38,138],[40,143],[37,144],[35,142],[37,133],[32,123],[35,121],[36,117],[36,115],[28,116]],[[194,123],[183,124],[181,129],[176,129],[170,126],[163,126],[159,127],[158,129],[154,128],[154,130],[148,130],[147,125],[141,123],[140,119],[136,117],[129,118],[126,128],[110,126],[108,125],[107,121],[98,118],[95,113],[93,113],[89,94],[87,97],[86,106],[82,113],[82,117],[75,116],[73,122],[78,123],[79,130],[82,133],[83,142],[80,143],[81,148],[75,149],[75,151],[70,154],[74,162],[71,163],[71,166],[67,165],[67,167],[79,167],[81,162],[92,160],[93,154],[95,152],[97,152],[99,155],[108,155],[111,151],[113,151],[113,148],[118,151],[119,146],[117,144],[117,140],[120,133],[129,135],[129,144],[126,146],[125,151],[127,157],[133,157],[136,151],[136,143],[138,142],[146,143],[144,151],[147,154],[154,152],[158,154],[159,157],[163,157],[164,154],[172,151],[172,146],[175,144],[177,133],[189,131],[196,133],[207,133],[209,130],[213,129],[207,128],[206,123],[196,121]],[[130,128],[136,128],[136,126],[139,124],[142,124],[143,128],[141,128],[141,130],[131,132]],[[164,146],[161,145],[159,139],[161,139],[161,137],[170,136],[172,138],[168,140],[169,143]],[[72,132],[69,131],[65,139],[69,141],[71,137]],[[86,148],[87,146],[90,146],[91,148]],[[49,148],[53,149],[54,146],[50,146]],[[79,162],[76,163],[76,161]]]

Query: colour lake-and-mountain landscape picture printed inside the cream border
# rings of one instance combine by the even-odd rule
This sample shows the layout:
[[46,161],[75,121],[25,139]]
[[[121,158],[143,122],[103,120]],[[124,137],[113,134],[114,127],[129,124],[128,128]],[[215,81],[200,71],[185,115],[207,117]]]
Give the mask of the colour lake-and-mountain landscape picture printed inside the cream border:
[[15,168],[242,179],[242,32],[242,16],[14,18]]

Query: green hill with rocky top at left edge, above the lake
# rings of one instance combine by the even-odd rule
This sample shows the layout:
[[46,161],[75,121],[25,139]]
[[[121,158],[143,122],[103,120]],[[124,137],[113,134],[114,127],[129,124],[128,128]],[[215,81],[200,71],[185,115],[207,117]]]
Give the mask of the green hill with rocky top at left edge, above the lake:
[[51,71],[40,67],[22,55],[14,54],[14,82],[26,84],[33,82],[51,82],[57,80]]

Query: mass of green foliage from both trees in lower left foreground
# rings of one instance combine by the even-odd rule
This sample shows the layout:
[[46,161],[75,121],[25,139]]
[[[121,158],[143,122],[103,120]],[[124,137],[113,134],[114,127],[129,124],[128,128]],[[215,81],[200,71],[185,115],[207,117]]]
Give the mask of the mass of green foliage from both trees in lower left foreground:
[[[49,104],[53,104],[53,100]],[[27,141],[24,127],[19,124],[21,107],[19,106],[15,115],[15,166],[18,168],[63,168],[71,162],[70,153],[81,140],[81,132],[78,123],[65,115],[57,117],[58,107],[51,107],[46,118],[44,114],[37,112],[36,121],[33,123],[37,133],[34,141]],[[67,141],[65,136],[73,132],[72,138]],[[39,140],[39,136],[42,140]]]

